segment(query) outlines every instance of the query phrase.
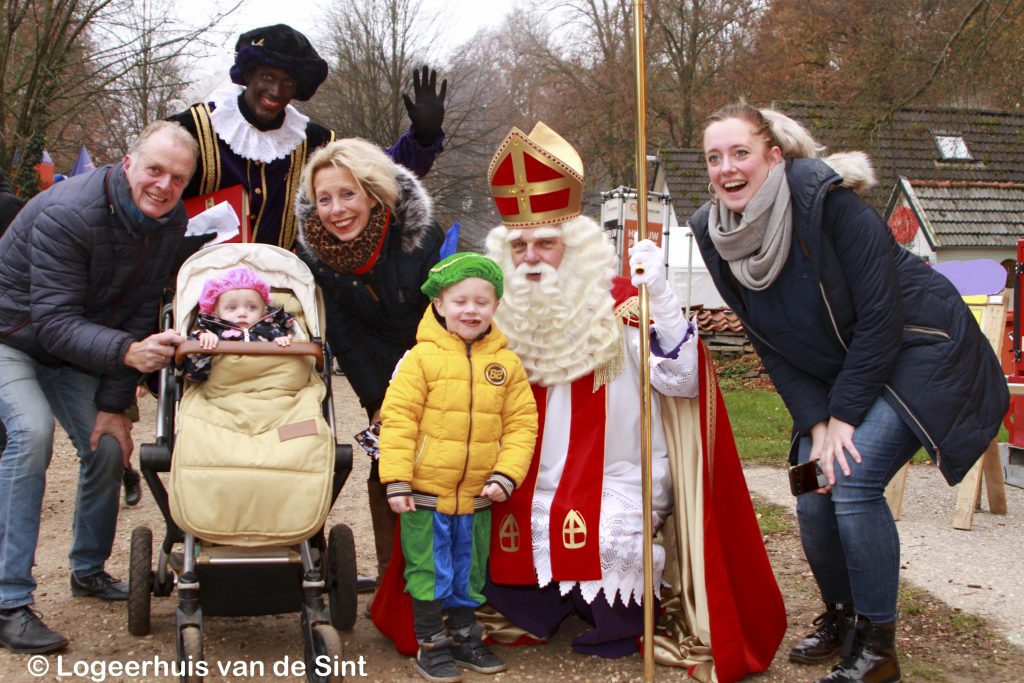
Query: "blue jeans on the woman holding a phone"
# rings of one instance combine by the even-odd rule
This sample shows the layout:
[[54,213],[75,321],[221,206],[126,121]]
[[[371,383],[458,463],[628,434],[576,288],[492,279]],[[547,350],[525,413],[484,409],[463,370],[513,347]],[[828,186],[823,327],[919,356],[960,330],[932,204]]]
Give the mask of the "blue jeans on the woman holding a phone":
[[[831,493],[797,499],[804,554],[825,602],[853,601],[857,613],[885,624],[896,618],[899,535],[886,484],[921,443],[884,398],[871,405],[853,433],[862,462],[847,454],[850,476],[836,466]],[[807,462],[811,437],[800,440],[798,460]]]

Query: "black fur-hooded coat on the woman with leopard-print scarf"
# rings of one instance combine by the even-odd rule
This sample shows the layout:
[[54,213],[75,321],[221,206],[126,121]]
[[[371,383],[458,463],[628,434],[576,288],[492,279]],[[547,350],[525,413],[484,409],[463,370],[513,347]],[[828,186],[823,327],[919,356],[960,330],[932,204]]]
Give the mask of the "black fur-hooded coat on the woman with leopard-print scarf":
[[305,222],[314,209],[301,190],[296,200],[297,251],[324,292],[327,341],[368,415],[380,409],[395,366],[416,344],[430,303],[420,286],[444,241],[416,176],[400,169],[397,179],[399,197],[384,247],[361,275],[334,270],[306,244]]

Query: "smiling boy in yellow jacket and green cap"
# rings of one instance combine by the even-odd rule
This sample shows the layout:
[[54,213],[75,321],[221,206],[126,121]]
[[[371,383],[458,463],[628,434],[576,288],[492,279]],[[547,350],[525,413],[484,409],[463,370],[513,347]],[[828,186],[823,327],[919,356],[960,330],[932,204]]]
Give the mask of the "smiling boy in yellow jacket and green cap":
[[421,289],[433,305],[381,409],[380,475],[401,515],[416,666],[435,683],[461,680],[457,665],[505,670],[483,644],[474,610],[484,600],[490,503],[526,475],[537,404],[492,321],[502,287],[501,267],[479,254],[453,254],[430,269]]

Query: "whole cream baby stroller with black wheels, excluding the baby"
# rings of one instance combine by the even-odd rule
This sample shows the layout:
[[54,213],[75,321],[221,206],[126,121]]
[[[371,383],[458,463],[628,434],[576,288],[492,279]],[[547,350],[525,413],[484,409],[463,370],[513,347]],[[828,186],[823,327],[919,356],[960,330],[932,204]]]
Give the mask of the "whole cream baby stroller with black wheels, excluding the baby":
[[[355,624],[355,545],[344,524],[325,540],[324,523],[351,472],[352,449],[336,443],[312,273],[276,247],[204,249],[182,264],[162,327],[186,335],[206,280],[239,266],[271,285],[272,305],[285,306],[300,332],[287,348],[221,341],[202,385],[180,370],[198,342],[179,346],[175,367],[160,373],[156,440],[140,447],[139,465],[167,528],[155,566],[152,530],[132,531],[128,631],[147,634],[151,597],[176,584],[181,681],[197,681],[202,672],[187,663],[203,660],[204,616],[298,611],[307,679],[333,681],[314,663],[339,660],[338,630]],[[170,473],[170,494],[161,472]]]

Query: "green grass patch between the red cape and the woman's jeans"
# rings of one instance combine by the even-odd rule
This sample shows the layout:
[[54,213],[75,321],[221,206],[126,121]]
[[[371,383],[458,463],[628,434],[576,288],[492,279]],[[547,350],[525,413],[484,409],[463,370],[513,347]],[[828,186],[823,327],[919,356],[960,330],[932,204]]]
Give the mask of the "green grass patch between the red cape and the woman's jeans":
[[739,459],[745,463],[787,464],[793,419],[778,394],[739,388],[723,390],[723,395]]

